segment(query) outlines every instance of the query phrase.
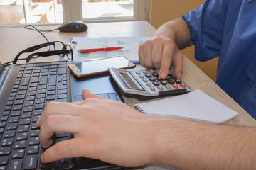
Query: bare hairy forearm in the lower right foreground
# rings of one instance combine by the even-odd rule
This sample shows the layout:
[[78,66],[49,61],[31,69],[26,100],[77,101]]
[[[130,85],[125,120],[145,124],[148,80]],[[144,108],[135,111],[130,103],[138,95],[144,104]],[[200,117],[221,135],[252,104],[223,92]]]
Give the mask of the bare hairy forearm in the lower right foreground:
[[156,123],[158,163],[179,169],[255,169],[256,130],[161,118]]

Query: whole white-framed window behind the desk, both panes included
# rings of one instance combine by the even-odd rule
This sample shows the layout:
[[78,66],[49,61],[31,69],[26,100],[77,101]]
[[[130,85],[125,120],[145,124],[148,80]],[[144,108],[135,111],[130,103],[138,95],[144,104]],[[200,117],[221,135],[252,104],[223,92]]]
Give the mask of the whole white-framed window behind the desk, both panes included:
[[149,0],[0,0],[0,24],[147,20]]

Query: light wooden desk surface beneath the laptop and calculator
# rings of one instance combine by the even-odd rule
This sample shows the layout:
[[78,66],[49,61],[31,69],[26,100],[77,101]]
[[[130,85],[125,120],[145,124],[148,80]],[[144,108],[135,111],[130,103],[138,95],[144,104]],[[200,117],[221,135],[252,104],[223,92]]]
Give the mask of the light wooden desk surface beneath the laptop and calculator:
[[[37,26],[43,30],[50,30],[57,28],[56,25],[51,26]],[[60,40],[68,43],[73,36],[84,37],[117,37],[117,36],[151,36],[156,30],[146,21],[134,22],[118,22],[118,23],[90,23],[89,29],[85,33],[60,33],[58,30],[44,33],[48,40]],[[42,35],[33,30],[26,30],[24,28],[0,28],[0,61],[2,63],[9,62],[21,50],[31,47],[36,44],[46,42]],[[39,57],[33,62],[58,60],[59,57]],[[31,61],[32,62],[32,61]],[[201,89],[209,96],[223,103],[225,106],[232,108],[238,112],[238,116],[228,121],[226,124],[256,127],[256,121],[244,111],[238,103],[235,103],[228,94],[220,89],[209,77],[204,74],[201,69],[198,69],[193,62],[184,56],[184,72],[182,79],[191,86],[193,90]],[[134,106],[134,103],[139,101],[133,98],[125,98],[125,103],[129,106]],[[146,167],[146,169],[154,169],[155,165]],[[158,167],[158,166],[157,166]]]

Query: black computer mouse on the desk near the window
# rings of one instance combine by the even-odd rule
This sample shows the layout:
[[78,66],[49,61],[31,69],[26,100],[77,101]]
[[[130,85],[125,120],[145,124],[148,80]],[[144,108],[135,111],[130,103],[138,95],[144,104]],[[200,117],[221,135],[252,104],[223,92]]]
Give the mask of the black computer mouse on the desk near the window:
[[58,30],[60,32],[68,32],[68,33],[84,32],[87,29],[88,29],[88,26],[82,21],[70,21],[58,27]]

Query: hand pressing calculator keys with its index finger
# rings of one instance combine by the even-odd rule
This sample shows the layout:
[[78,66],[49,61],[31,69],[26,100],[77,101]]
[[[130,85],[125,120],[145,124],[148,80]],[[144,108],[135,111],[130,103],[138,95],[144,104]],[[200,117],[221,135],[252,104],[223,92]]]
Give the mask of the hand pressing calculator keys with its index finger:
[[183,72],[183,57],[171,38],[156,37],[144,42],[139,46],[139,62],[146,68],[160,69],[161,79],[166,78],[171,65],[177,77],[181,78]]

